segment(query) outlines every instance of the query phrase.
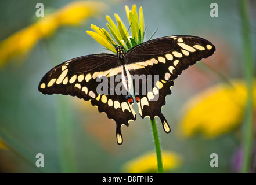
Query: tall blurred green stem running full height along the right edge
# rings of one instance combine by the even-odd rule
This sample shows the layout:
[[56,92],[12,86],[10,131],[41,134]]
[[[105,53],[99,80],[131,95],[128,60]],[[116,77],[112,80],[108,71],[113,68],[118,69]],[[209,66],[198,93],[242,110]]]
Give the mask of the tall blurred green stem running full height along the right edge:
[[243,28],[243,47],[244,47],[244,74],[246,78],[248,98],[245,110],[245,119],[243,124],[243,150],[244,162],[242,173],[250,172],[251,165],[251,149],[253,144],[253,55],[251,51],[251,36],[250,36],[250,18],[248,14],[248,1],[239,1],[241,21]]

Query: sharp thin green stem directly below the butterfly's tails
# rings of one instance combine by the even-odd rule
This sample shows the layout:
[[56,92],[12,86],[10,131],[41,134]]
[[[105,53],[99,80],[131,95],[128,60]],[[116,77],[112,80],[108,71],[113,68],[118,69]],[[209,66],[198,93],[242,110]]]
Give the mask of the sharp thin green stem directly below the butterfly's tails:
[[153,120],[153,121],[150,120],[150,121],[151,121],[153,136],[154,136],[154,146],[156,147],[158,173],[164,173],[161,147],[160,147],[160,141],[159,141],[159,136],[158,136],[158,132],[157,132],[156,120]]

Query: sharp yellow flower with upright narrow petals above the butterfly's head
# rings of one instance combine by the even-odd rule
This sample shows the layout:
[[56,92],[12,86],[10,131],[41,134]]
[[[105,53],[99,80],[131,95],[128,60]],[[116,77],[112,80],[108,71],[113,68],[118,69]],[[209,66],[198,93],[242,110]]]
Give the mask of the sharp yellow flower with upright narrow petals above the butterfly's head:
[[114,14],[117,20],[117,25],[110,18],[110,16],[106,16],[106,20],[109,22],[107,23],[107,28],[109,28],[111,35],[117,43],[114,42],[106,29],[101,29],[93,24],[91,25],[91,28],[94,32],[86,31],[86,33],[92,36],[92,38],[99,42],[100,45],[106,47],[106,49],[113,51],[114,53],[117,53],[117,46],[123,46],[124,49],[131,49],[132,47],[139,45],[143,42],[145,31],[142,7],[139,9],[139,16],[136,10],[136,5],[132,6],[132,10],[129,10],[128,6],[125,6],[125,11],[127,13],[129,24],[131,25],[131,36],[129,36],[127,28],[118,14]]

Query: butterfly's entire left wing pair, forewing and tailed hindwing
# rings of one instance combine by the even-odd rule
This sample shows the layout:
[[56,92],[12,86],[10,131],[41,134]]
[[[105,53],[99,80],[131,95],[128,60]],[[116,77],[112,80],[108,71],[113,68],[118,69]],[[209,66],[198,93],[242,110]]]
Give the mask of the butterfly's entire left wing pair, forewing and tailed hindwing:
[[[116,121],[117,142],[121,144],[121,125],[135,120],[136,114],[131,107],[132,97],[113,91],[118,84],[122,85],[121,79],[115,81],[120,73],[120,63],[113,54],[82,56],[51,69],[42,78],[38,90],[43,94],[71,95],[91,101],[99,112],[105,112],[109,119]],[[107,89],[102,90],[105,87]]]

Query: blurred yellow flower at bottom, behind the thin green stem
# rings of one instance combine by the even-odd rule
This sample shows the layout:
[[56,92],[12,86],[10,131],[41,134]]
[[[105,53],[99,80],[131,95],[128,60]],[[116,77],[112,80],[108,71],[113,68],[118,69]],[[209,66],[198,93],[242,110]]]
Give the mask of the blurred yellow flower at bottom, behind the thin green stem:
[[[182,158],[179,154],[171,151],[162,151],[162,160],[164,171],[179,168],[182,164]],[[128,161],[123,165],[125,173],[156,173],[157,157],[156,153],[149,152]]]

